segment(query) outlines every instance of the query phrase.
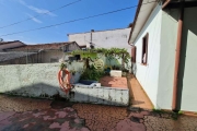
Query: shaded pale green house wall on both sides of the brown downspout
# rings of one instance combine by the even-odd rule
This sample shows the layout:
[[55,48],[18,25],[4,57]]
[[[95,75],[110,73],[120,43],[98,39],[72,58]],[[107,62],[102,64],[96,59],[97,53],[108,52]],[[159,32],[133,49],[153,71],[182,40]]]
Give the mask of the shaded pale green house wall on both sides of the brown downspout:
[[[177,108],[196,111],[197,74],[197,8],[185,8],[182,49],[178,70]],[[158,108],[172,109],[175,47],[177,40],[178,10],[165,10],[162,13],[160,73],[158,88]]]

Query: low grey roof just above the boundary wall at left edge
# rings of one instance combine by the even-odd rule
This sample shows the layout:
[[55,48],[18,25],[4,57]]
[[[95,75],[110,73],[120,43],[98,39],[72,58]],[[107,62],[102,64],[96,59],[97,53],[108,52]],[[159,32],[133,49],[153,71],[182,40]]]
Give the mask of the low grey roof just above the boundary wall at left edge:
[[40,59],[36,52],[0,52],[0,66],[38,63]]

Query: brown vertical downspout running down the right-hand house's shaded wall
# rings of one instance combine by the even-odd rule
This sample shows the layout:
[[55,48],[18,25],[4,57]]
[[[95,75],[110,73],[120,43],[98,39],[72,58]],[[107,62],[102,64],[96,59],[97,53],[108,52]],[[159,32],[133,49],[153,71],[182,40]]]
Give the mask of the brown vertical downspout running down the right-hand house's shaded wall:
[[179,4],[179,17],[178,17],[178,29],[177,29],[177,41],[176,41],[176,52],[175,52],[175,67],[174,67],[174,82],[173,82],[173,100],[172,110],[177,110],[177,82],[178,82],[178,68],[179,68],[179,52],[182,45],[182,29],[183,29],[183,19],[184,19],[184,0]]

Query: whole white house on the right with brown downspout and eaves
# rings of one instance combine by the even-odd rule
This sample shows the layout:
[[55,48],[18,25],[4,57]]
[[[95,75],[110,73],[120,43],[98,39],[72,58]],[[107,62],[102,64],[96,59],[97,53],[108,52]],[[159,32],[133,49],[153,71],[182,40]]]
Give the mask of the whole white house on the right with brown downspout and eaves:
[[132,69],[155,108],[197,111],[197,1],[140,0]]

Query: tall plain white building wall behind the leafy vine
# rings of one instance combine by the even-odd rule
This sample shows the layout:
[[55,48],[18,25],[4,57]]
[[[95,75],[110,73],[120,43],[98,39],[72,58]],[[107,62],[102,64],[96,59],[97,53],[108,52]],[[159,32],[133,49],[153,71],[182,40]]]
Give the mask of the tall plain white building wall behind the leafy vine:
[[130,28],[119,28],[109,31],[91,31],[88,33],[68,34],[69,41],[77,41],[80,46],[91,44],[96,48],[126,48],[130,52],[128,45]]

